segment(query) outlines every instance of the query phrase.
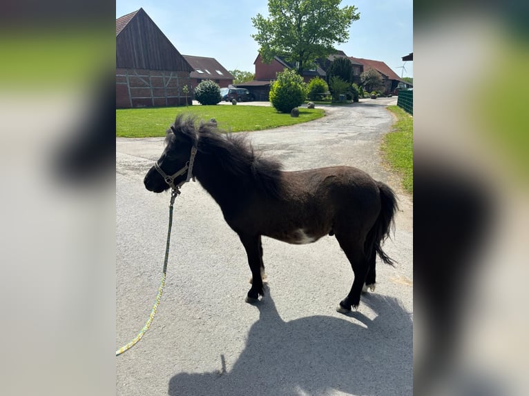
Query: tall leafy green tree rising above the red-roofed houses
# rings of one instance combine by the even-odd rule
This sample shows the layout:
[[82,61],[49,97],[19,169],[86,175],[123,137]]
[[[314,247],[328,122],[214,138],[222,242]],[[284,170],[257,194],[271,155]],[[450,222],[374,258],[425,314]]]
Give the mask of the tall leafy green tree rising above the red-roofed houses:
[[316,59],[335,51],[334,43],[349,40],[349,27],[360,19],[355,6],[339,8],[341,0],[269,0],[269,17],[252,18],[252,34],[265,63],[279,56],[295,63],[298,74]]

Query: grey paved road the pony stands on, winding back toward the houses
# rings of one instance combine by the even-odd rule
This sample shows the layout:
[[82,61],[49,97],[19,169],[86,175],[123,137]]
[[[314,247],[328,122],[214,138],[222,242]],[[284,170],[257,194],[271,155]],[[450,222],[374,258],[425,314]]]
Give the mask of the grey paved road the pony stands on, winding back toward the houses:
[[[398,192],[385,244],[398,265],[378,264],[376,293],[358,312],[335,311],[352,270],[334,237],[303,246],[263,238],[269,293],[244,303],[244,249],[213,199],[186,184],[162,303],[144,339],[116,358],[116,395],[412,394],[412,203],[378,152],[395,101],[328,107],[322,119],[250,134],[287,170],[351,165]],[[169,195],[142,179],[162,150],[161,138],[116,142],[117,347],[144,325],[160,282]]]

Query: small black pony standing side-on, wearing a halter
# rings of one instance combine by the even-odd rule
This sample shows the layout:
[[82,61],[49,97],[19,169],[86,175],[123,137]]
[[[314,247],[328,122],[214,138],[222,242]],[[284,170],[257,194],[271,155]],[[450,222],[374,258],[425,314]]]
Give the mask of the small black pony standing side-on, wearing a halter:
[[289,244],[335,235],[354,272],[352,288],[336,309],[357,308],[363,287],[374,290],[376,254],[393,264],[381,243],[394,224],[394,192],[349,166],[282,171],[277,161],[253,152],[244,135],[219,132],[213,123],[198,125],[179,115],[167,130],[162,156],[145,176],[147,190],[177,188],[191,175],[200,181],[246,249],[250,303],[263,295],[261,235]]

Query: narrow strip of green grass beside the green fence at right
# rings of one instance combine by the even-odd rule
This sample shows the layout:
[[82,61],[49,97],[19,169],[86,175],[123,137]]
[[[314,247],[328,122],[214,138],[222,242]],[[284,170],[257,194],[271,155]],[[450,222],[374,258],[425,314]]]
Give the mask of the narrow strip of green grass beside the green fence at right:
[[413,117],[398,106],[387,106],[397,117],[393,131],[385,135],[382,151],[389,165],[401,175],[404,189],[413,194]]

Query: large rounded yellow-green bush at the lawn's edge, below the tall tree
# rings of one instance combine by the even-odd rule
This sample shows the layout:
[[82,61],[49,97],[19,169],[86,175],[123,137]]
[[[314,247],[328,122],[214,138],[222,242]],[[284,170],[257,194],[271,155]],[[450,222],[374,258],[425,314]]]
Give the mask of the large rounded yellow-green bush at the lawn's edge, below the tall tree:
[[300,106],[307,96],[307,84],[295,70],[279,72],[270,86],[269,99],[278,112],[290,112]]

